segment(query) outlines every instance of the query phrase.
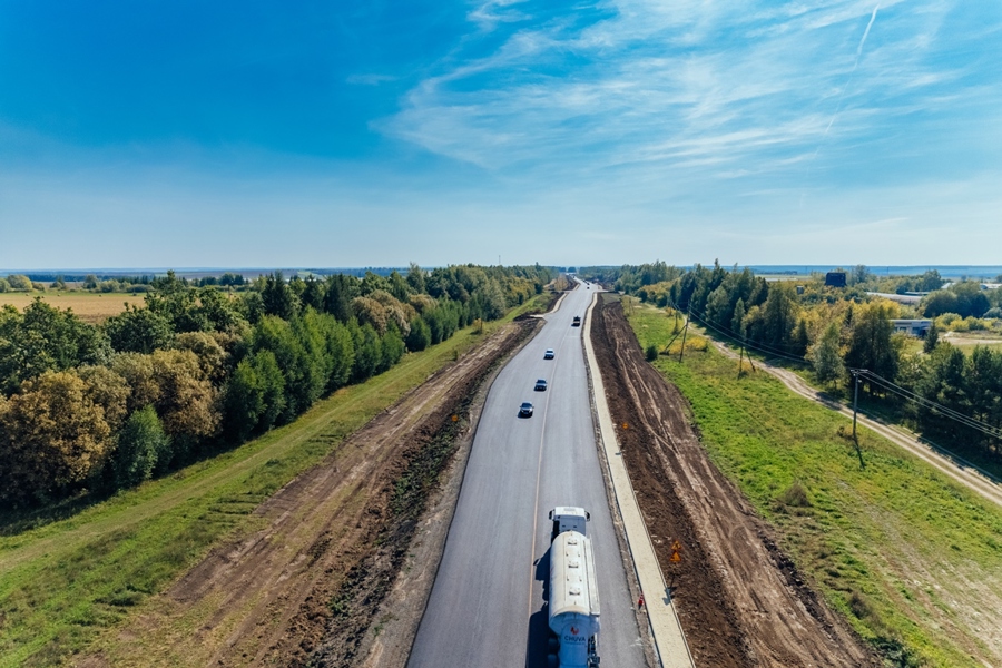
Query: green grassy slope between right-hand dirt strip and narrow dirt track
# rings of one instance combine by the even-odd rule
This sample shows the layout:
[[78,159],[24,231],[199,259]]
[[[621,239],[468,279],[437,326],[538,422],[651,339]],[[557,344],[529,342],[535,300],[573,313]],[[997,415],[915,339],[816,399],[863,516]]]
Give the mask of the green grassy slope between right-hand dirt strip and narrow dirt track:
[[[664,313],[630,320],[642,346],[670,340]],[[656,364],[691,402],[717,465],[864,638],[901,662],[999,665],[984,613],[1002,607],[1002,509],[866,430],[861,468],[844,418],[768,374],[738,382],[711,346]],[[782,501],[795,482],[809,505]]]

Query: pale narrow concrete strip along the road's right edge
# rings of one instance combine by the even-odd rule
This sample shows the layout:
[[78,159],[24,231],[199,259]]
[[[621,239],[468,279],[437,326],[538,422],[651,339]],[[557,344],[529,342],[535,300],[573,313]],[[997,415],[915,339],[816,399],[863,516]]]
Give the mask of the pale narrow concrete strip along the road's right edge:
[[633,560],[633,571],[637,573],[637,581],[640,583],[640,591],[647,607],[655,654],[664,668],[695,668],[696,664],[692,661],[692,655],[689,652],[689,646],[682,633],[678,612],[671,602],[671,592],[665,584],[665,576],[658,564],[650,534],[647,532],[647,524],[640,514],[633,485],[630,483],[630,477],[619,451],[616,426],[609,414],[609,404],[606,402],[606,389],[602,384],[598,361],[595,357],[595,348],[591,346],[591,312],[597,301],[598,293],[592,296],[591,305],[584,314],[584,358],[589,376],[591,376],[602,449],[606,452],[616,503],[619,507],[627,544]]

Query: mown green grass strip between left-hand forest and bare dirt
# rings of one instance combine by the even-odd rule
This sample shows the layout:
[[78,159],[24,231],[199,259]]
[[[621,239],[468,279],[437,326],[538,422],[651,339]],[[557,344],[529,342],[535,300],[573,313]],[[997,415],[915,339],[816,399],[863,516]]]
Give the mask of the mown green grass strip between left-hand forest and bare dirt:
[[0,537],[0,667],[52,665],[86,647],[213,546],[256,530],[261,502],[480,341],[463,330],[233,452]]

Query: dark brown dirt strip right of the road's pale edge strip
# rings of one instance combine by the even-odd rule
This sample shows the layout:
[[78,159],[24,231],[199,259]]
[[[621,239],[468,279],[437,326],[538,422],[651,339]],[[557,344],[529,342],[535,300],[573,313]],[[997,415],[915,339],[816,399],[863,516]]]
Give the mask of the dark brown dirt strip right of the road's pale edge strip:
[[[709,461],[686,400],[646,362],[621,305],[593,313],[621,451],[696,665],[880,665]],[[670,561],[675,541],[680,562]]]

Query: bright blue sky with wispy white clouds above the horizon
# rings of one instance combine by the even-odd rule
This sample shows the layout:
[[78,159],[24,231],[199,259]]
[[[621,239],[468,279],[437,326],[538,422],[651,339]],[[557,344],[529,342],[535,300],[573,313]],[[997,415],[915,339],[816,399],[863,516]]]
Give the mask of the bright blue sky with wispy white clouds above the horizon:
[[0,267],[998,264],[1002,3],[0,0]]

